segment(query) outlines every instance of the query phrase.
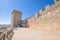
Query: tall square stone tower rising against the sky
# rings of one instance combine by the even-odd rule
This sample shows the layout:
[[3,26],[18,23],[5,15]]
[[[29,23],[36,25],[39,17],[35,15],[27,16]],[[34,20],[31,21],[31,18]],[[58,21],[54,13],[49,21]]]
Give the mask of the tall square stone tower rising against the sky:
[[11,28],[16,27],[21,20],[22,20],[22,12],[13,10],[11,19]]

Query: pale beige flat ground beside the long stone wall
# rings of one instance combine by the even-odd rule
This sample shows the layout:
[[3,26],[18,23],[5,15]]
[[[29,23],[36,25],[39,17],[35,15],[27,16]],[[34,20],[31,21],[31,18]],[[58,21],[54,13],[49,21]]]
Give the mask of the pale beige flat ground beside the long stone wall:
[[12,40],[60,40],[60,34],[50,34],[29,28],[17,28],[17,30],[14,30]]

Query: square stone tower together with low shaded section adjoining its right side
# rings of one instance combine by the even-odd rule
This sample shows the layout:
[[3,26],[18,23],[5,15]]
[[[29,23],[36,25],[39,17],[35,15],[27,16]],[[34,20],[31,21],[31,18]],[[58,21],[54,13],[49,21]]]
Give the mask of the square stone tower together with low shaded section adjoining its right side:
[[13,29],[14,27],[26,27],[26,19],[22,20],[22,12],[17,10],[12,12],[11,28]]

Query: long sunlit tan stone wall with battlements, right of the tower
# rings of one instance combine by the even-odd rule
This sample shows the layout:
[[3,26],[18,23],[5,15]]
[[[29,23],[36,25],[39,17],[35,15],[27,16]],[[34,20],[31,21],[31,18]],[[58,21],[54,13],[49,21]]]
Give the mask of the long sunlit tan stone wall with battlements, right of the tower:
[[60,33],[60,0],[54,1],[54,5],[47,5],[45,10],[27,19],[30,28]]

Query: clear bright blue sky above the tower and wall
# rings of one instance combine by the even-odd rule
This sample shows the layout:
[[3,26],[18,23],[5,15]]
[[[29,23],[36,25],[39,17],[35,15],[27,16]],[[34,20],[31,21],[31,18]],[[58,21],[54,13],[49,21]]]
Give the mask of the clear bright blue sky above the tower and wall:
[[0,0],[0,24],[10,24],[12,11],[19,10],[22,18],[33,16],[46,5],[54,4],[53,0]]

